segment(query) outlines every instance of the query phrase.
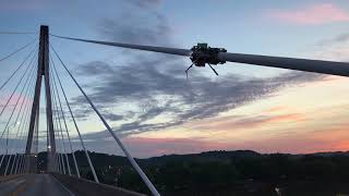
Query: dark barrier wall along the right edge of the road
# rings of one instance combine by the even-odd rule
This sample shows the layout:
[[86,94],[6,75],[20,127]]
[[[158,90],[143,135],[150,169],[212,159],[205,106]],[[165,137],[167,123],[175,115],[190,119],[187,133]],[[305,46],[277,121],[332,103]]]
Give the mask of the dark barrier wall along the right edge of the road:
[[75,176],[62,175],[57,173],[53,173],[52,175],[76,196],[145,196],[143,194],[139,194],[128,189],[100,183],[98,184],[85,179],[79,179]]

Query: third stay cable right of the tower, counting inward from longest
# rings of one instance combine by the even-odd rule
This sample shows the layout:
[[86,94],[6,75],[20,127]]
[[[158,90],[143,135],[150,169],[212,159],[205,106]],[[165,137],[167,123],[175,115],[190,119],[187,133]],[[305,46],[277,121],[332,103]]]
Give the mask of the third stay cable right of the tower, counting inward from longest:
[[[73,150],[72,142],[71,142],[71,138],[70,138],[70,134],[69,134],[69,128],[68,128],[67,121],[65,121],[65,114],[63,112],[61,98],[59,96],[59,90],[58,90],[58,87],[57,87],[58,85],[57,85],[57,82],[56,82],[56,77],[57,77],[57,81],[59,81],[59,76],[58,76],[58,74],[56,72],[55,62],[52,61],[52,57],[51,56],[50,56],[50,60],[51,60],[51,64],[52,64],[52,68],[53,68],[53,74],[51,75],[51,78],[53,81],[53,86],[55,86],[56,93],[58,95],[59,107],[60,107],[60,111],[61,111],[61,114],[62,114],[62,119],[63,119],[63,123],[64,123],[64,127],[65,127],[65,132],[67,132],[67,137],[68,137],[69,145],[70,145],[70,150],[71,150],[72,156],[73,156],[73,161],[74,161],[74,166],[75,166],[76,175],[77,175],[77,177],[80,177],[80,171],[79,171],[79,167],[77,167],[77,162],[76,162],[76,158],[75,158],[75,151]],[[59,83],[60,83],[60,81],[59,81]]]

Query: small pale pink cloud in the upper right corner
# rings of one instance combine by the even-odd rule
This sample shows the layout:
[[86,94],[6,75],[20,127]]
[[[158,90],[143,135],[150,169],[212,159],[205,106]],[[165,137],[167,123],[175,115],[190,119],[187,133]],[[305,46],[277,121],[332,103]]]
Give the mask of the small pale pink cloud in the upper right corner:
[[330,3],[315,4],[300,10],[273,11],[269,16],[282,22],[304,25],[349,22],[349,12]]

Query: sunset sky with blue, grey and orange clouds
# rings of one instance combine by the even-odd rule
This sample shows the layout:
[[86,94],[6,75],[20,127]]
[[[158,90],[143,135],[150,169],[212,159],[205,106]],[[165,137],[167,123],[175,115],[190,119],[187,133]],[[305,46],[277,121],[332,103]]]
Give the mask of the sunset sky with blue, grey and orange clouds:
[[[37,38],[44,24],[51,34],[87,39],[185,49],[207,42],[237,53],[349,61],[347,0],[2,0],[0,20],[0,33],[34,33],[0,34],[0,59]],[[349,148],[346,77],[226,63],[216,66],[219,76],[195,68],[186,79],[191,62],[183,57],[55,37],[50,44],[135,157]],[[31,47],[37,48],[0,61],[0,84]],[[53,62],[58,66],[55,57]],[[61,66],[58,72],[87,148],[121,155]],[[0,91],[2,106],[19,79]],[[45,115],[44,105],[41,98]],[[10,114],[0,117],[0,128]],[[70,119],[68,126],[74,148],[81,148]],[[39,133],[45,140],[45,118]]]

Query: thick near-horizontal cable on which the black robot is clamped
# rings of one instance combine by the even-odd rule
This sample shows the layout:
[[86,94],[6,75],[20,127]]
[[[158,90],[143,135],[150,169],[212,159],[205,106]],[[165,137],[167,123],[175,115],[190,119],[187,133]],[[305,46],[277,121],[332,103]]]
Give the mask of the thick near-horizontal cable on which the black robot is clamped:
[[[312,59],[298,59],[298,58],[286,58],[286,57],[273,57],[273,56],[256,56],[248,53],[231,53],[227,52],[225,49],[219,48],[202,48],[201,46],[194,47],[191,50],[179,49],[179,48],[168,48],[168,47],[154,47],[154,46],[143,46],[143,45],[131,45],[122,42],[110,42],[110,41],[99,41],[91,39],[81,39],[73,37],[63,37],[51,35],[62,39],[92,42],[97,45],[113,46],[136,50],[145,50],[160,53],[169,53],[176,56],[186,56],[191,59],[200,57],[203,62],[209,64],[213,62],[225,63],[244,63],[261,66],[270,66],[278,69],[297,70],[303,72],[314,72],[321,74],[332,74],[349,77],[349,62],[336,62],[336,61],[322,61]],[[203,50],[202,50],[203,49]],[[208,58],[208,59],[207,59]]]

